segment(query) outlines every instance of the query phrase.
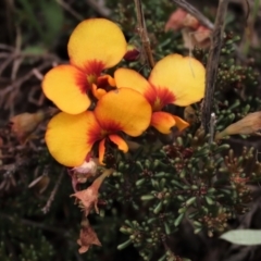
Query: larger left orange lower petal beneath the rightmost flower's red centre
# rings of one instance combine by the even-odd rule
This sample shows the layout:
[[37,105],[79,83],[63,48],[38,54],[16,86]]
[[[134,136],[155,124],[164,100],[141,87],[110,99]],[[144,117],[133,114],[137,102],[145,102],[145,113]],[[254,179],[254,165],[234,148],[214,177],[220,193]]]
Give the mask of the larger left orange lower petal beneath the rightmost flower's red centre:
[[150,125],[157,128],[160,133],[169,134],[171,128],[175,125],[175,120],[171,113],[153,112]]

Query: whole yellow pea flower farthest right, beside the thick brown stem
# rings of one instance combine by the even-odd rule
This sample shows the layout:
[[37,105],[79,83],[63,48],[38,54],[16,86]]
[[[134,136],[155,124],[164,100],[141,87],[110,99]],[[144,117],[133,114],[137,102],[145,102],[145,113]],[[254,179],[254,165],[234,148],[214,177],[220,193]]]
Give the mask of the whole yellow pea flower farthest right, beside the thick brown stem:
[[127,87],[142,94],[152,108],[150,125],[169,134],[176,125],[179,130],[188,126],[181,117],[163,112],[170,103],[186,107],[204,95],[203,65],[194,58],[170,54],[152,69],[148,80],[129,69],[117,69],[114,79],[117,87]]

